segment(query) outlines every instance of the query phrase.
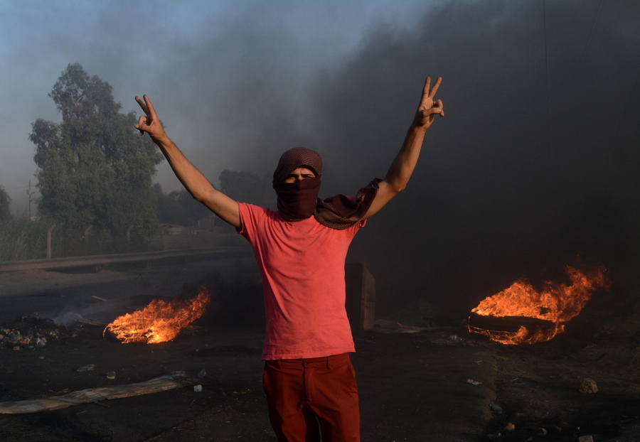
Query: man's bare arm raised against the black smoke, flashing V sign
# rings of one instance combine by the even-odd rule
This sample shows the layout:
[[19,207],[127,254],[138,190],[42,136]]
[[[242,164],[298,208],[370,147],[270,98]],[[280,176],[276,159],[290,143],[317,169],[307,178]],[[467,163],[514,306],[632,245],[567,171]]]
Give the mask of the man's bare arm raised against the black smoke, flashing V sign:
[[418,104],[405,142],[402,144],[402,148],[393,160],[393,163],[391,163],[384,180],[380,181],[378,193],[375,195],[373,203],[364,216],[365,218],[375,215],[375,213],[385,207],[395,195],[398,195],[398,193],[407,187],[418,157],[420,157],[425,132],[433,123],[436,115],[444,117],[442,99],[434,99],[440,82],[442,82],[442,78],[438,77],[433,87],[431,87],[431,77],[427,77],[425,88],[422,90],[420,104]]

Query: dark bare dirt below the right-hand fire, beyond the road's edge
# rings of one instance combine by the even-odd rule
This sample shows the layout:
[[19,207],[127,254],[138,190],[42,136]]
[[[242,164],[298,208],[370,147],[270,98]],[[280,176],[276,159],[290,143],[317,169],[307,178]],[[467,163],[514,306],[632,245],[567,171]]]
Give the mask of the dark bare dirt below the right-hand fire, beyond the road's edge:
[[488,433],[504,441],[640,441],[640,300],[615,303],[616,296],[593,298],[547,343],[496,347],[503,413]]

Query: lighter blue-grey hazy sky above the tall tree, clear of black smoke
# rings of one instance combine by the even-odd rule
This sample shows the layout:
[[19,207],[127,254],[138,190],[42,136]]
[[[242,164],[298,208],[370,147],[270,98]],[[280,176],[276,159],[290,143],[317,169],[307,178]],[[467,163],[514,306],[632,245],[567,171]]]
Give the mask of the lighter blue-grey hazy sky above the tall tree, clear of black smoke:
[[[247,94],[265,81],[305,106],[294,97],[319,70],[341,65],[379,23],[417,26],[430,4],[437,1],[2,0],[0,185],[18,212],[30,178],[37,190],[28,134],[38,118],[60,120],[48,93],[70,63],[109,82],[123,112],[148,94],[176,141],[208,152],[203,170],[215,182],[223,168],[242,168],[229,144],[246,136],[225,129],[220,108],[246,111],[255,105]],[[158,180],[178,188],[166,169]]]

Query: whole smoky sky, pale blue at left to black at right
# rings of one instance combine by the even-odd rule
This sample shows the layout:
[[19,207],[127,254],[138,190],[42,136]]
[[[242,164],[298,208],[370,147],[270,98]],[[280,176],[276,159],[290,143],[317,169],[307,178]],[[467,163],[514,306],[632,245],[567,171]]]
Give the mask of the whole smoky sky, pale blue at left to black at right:
[[[31,123],[59,120],[47,94],[70,63],[124,112],[149,95],[213,183],[316,149],[321,196],[384,176],[441,75],[446,117],[352,247],[380,292],[467,308],[578,253],[631,284],[639,30],[634,0],[0,1],[0,185],[25,210]],[[179,188],[166,164],[156,179]]]

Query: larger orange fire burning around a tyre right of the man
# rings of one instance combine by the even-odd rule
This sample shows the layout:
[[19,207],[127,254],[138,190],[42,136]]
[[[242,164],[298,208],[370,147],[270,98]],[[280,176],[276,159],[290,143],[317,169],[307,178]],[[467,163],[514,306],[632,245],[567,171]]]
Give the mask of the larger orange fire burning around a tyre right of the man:
[[469,331],[487,335],[491,340],[503,344],[533,344],[552,339],[565,331],[564,323],[580,314],[595,289],[608,289],[610,284],[606,269],[602,266],[585,271],[565,266],[565,274],[569,276],[571,284],[545,282],[541,291],[533,289],[526,280],[518,279],[508,289],[485,298],[471,310],[482,316],[519,316],[546,320],[550,324],[548,328],[530,332],[523,325],[517,332],[505,332],[469,325]]

